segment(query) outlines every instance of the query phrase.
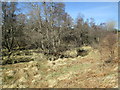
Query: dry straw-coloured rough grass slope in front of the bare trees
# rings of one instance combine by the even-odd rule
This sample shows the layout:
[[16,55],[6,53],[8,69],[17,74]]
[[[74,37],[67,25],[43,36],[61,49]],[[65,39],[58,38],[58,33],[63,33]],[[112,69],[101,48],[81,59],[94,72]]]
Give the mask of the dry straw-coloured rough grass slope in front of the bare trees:
[[90,46],[82,48],[89,50],[89,54],[49,61],[41,53],[33,52],[27,57],[35,61],[0,66],[3,72],[1,87],[118,88],[117,48],[110,63],[105,63],[109,59],[106,47],[102,55]]

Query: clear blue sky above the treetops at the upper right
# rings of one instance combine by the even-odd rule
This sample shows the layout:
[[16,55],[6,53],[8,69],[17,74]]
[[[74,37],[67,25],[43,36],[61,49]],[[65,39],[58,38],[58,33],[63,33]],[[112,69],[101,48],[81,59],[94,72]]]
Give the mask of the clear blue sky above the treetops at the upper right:
[[97,24],[110,20],[118,22],[117,2],[66,2],[65,5],[73,19],[80,13],[85,19],[94,18]]

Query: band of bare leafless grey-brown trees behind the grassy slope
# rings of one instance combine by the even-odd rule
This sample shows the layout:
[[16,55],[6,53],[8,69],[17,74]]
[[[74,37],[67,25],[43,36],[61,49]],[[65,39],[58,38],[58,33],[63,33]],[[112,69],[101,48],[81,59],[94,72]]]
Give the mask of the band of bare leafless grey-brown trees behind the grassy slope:
[[[48,53],[60,53],[84,45],[95,47],[106,37],[108,29],[114,29],[113,22],[96,25],[93,18],[89,22],[81,15],[74,23],[65,11],[64,3],[24,3],[28,12],[20,14],[15,14],[18,11],[16,3],[3,4],[2,43],[10,54],[13,49],[21,47]],[[114,37],[109,37],[108,43],[112,48]]]

